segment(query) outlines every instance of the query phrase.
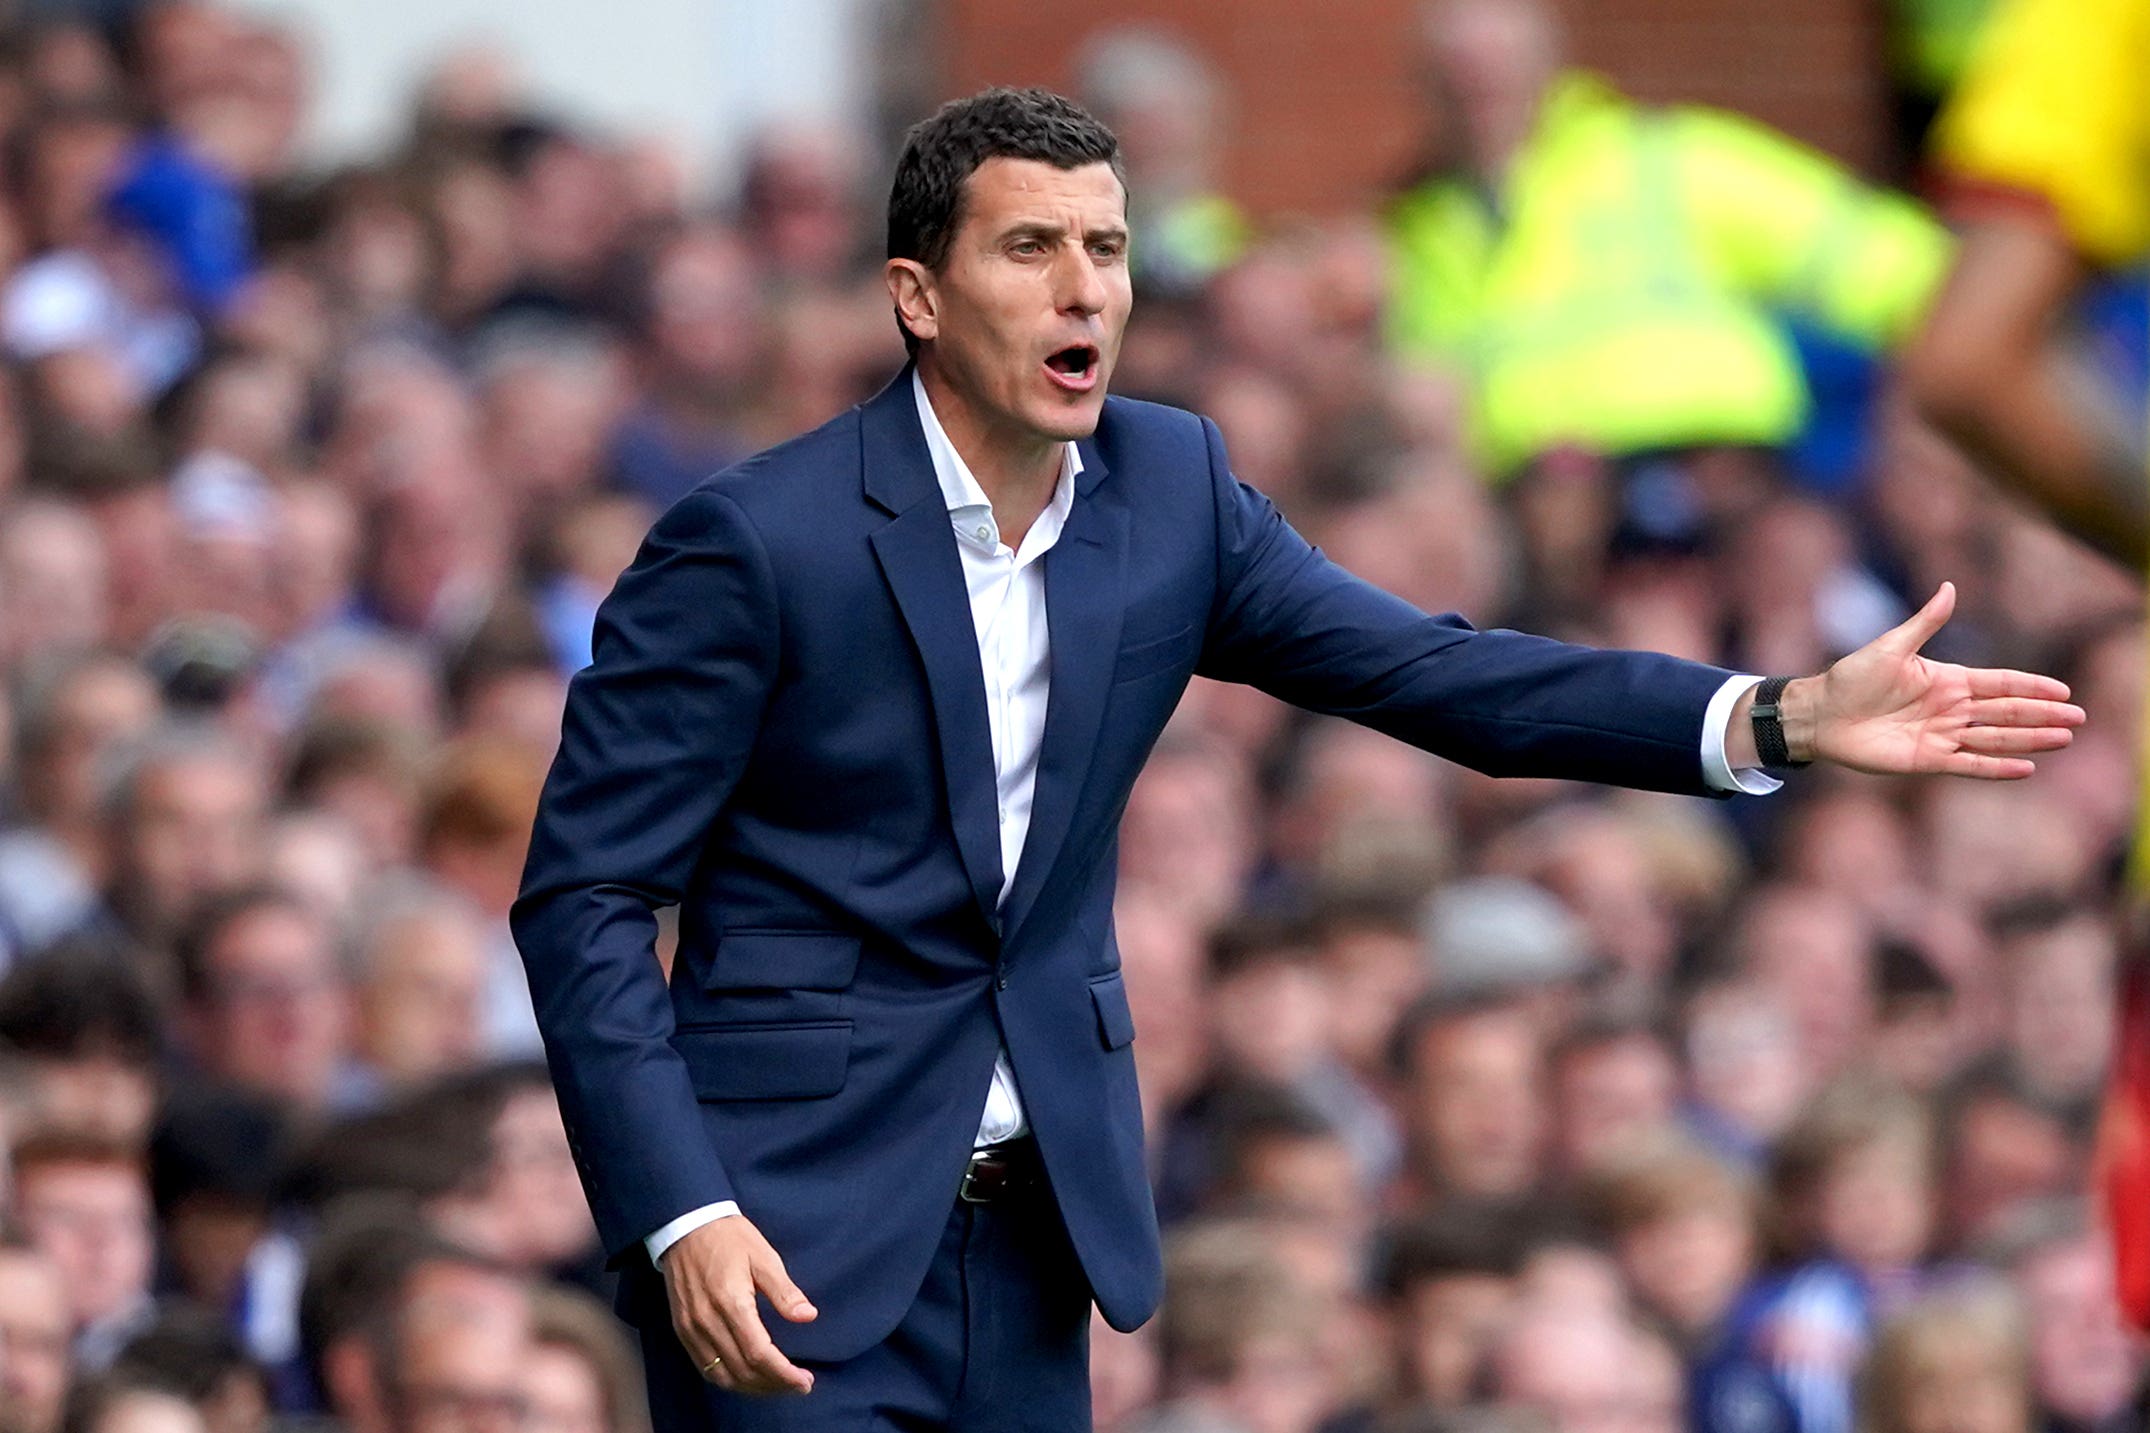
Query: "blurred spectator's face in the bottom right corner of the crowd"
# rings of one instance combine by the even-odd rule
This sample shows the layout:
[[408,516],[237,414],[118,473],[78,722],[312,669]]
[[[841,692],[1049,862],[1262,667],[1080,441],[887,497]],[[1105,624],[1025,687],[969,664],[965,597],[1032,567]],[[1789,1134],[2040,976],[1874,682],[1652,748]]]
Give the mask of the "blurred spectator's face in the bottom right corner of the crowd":
[[2032,1388],[2038,1405],[2075,1427],[2096,1427],[2128,1407],[2144,1356],[2113,1298],[2113,1255],[2096,1235],[2049,1244],[2017,1268],[2030,1313]]

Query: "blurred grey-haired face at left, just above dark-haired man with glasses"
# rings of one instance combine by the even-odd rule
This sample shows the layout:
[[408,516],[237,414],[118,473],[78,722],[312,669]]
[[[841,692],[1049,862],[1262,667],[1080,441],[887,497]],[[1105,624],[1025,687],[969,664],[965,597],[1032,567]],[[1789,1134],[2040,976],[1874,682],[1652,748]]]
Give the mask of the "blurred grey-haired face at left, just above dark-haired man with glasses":
[[260,773],[234,754],[172,756],[138,773],[118,872],[150,930],[176,928],[209,896],[258,874],[267,801]]

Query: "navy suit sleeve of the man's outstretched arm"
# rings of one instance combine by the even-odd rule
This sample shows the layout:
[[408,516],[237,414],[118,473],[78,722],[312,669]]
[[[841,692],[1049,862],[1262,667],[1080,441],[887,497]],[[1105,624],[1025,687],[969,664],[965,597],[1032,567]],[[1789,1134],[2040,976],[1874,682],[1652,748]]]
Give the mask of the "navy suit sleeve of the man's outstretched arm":
[[1707,795],[1703,713],[1731,672],[1428,617],[1312,548],[1208,436],[1217,599],[1200,672],[1490,776]]

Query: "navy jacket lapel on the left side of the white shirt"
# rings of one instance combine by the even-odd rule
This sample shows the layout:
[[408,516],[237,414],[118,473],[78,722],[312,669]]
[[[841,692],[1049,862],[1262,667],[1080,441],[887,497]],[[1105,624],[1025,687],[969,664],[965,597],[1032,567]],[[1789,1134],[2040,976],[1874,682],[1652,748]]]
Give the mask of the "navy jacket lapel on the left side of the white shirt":
[[866,496],[894,513],[894,522],[873,533],[873,556],[924,664],[955,844],[972,894],[998,930],[1000,823],[978,629],[970,617],[963,556],[918,430],[912,370],[862,408],[860,425]]

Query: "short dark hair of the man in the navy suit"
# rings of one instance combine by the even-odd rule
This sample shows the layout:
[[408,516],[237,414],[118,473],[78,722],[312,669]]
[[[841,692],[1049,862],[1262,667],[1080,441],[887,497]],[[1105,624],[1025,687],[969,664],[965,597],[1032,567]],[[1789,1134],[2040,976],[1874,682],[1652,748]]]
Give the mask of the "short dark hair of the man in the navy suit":
[[[980,90],[948,101],[903,135],[888,189],[888,258],[940,269],[963,221],[963,183],[987,159],[1038,159],[1060,170],[1109,163],[1127,187],[1120,140],[1066,95]],[[903,339],[918,350],[909,329]]]

